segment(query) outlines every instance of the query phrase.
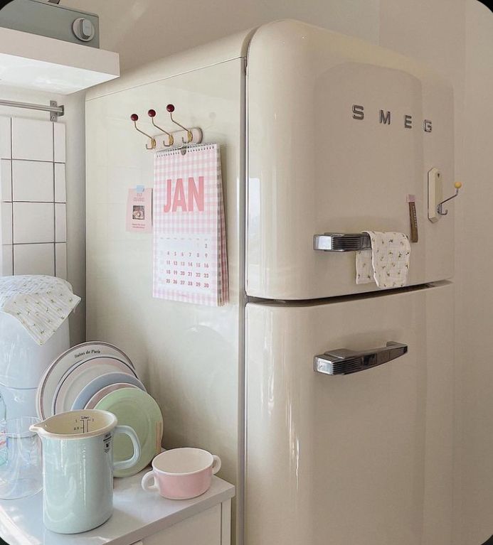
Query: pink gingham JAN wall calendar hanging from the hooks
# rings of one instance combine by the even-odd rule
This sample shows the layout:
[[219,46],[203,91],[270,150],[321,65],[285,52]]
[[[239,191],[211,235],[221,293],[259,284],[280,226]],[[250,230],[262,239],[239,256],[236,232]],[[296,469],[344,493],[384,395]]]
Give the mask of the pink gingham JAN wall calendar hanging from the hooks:
[[226,225],[217,144],[154,156],[153,296],[208,306],[228,302]]

